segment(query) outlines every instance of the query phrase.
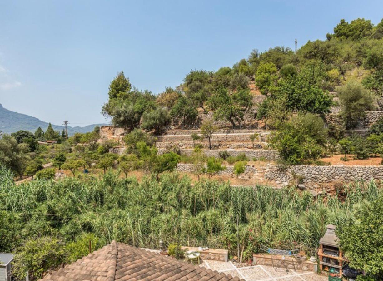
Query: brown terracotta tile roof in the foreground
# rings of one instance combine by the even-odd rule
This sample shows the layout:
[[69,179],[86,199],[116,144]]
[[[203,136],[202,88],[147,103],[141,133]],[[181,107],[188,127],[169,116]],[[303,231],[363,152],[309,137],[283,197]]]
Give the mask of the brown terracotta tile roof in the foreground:
[[113,242],[44,276],[48,280],[240,280],[168,256]]

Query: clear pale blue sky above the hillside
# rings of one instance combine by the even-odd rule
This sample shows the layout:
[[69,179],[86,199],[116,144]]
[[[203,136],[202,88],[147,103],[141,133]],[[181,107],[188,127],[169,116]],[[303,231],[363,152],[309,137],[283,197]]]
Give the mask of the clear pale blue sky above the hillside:
[[104,122],[124,70],[160,93],[191,69],[217,70],[252,49],[325,39],[341,18],[383,18],[383,1],[0,0],[0,103],[43,121]]

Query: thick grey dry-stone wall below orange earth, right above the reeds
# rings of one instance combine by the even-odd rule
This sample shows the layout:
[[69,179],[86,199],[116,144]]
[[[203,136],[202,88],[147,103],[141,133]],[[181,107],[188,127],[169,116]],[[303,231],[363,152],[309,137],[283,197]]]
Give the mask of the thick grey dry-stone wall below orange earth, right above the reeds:
[[265,171],[267,180],[275,181],[277,184],[285,185],[294,178],[301,177],[303,183],[331,183],[342,181],[382,180],[383,166],[360,166],[360,165],[296,165],[288,168],[280,168],[269,165]]

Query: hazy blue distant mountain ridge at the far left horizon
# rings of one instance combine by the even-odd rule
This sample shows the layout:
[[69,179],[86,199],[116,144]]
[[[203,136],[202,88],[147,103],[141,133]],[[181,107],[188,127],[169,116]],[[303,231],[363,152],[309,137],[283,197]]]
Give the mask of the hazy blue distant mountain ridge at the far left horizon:
[[[10,111],[6,108],[3,108],[2,104],[0,103],[0,131],[10,134],[19,130],[26,130],[26,131],[31,131],[34,132],[38,127],[41,127],[44,131],[48,127],[47,122],[41,121],[40,119],[29,116],[26,114],[18,113],[15,111]],[[95,126],[102,126],[102,125],[107,125],[107,124],[92,124],[88,125],[85,127],[68,127],[68,135],[71,136],[76,132],[79,133],[85,133],[85,132],[90,132],[93,131],[93,128]],[[53,125],[52,127],[55,131],[62,131],[64,129],[64,126],[58,126],[58,125]]]

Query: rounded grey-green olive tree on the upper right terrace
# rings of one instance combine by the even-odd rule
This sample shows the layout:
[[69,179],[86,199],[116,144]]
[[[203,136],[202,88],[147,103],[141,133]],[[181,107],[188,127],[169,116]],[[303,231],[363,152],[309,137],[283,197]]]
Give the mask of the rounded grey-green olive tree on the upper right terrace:
[[341,113],[346,129],[355,127],[365,117],[365,111],[374,108],[373,95],[357,81],[349,81],[346,85],[337,87]]

